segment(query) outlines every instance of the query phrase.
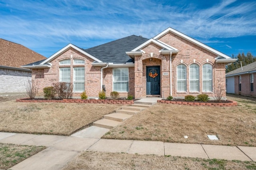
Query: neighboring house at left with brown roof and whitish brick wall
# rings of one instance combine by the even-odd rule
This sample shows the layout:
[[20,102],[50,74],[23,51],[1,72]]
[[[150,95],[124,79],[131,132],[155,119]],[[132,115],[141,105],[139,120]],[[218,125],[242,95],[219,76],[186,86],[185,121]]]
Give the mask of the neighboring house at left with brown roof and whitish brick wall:
[[26,92],[31,70],[20,66],[42,59],[46,57],[23,45],[0,39],[0,95]]

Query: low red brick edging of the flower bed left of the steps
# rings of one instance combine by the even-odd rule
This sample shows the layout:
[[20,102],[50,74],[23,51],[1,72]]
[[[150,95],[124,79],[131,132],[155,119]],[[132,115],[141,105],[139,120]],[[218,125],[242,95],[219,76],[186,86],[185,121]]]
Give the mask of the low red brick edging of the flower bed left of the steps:
[[56,103],[103,103],[103,104],[134,104],[133,100],[108,100],[108,99],[63,99],[63,100],[29,100],[16,99],[16,102],[28,102],[28,103],[42,103],[42,102],[56,102]]

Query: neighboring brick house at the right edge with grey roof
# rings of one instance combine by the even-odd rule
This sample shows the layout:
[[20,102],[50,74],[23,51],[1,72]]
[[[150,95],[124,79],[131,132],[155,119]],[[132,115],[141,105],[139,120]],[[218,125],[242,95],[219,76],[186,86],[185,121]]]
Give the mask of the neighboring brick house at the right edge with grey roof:
[[256,96],[256,62],[226,73],[226,93]]

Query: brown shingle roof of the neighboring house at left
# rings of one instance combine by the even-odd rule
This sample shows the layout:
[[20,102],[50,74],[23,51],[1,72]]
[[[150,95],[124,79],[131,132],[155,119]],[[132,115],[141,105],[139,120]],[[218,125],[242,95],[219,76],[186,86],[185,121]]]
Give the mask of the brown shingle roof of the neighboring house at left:
[[21,65],[42,59],[46,57],[23,45],[0,38],[0,65],[21,68]]

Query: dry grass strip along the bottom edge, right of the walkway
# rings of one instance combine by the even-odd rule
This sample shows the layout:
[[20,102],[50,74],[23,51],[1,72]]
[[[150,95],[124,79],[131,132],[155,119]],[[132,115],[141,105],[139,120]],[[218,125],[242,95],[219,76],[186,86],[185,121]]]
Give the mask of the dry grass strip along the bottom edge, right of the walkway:
[[206,160],[177,156],[138,155],[125,153],[82,152],[62,170],[209,170],[255,169],[255,162]]

